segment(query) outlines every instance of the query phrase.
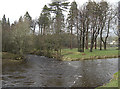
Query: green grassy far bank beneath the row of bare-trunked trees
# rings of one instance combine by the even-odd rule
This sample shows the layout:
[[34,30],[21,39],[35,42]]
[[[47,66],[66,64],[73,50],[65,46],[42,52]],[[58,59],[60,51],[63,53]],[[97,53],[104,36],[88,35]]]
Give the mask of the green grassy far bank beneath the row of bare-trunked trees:
[[109,48],[101,51],[99,49],[94,49],[93,52],[89,52],[89,50],[78,52],[77,49],[63,49],[62,56],[62,60],[64,61],[116,58],[118,57],[118,50],[116,50],[116,48]]

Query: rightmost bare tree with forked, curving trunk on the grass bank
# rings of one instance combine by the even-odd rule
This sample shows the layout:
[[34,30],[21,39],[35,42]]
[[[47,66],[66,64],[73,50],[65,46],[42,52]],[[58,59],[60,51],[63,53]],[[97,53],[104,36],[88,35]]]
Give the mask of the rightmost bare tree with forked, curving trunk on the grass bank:
[[[115,14],[114,14],[114,9],[105,1],[100,3],[100,9],[102,10],[103,16],[101,16],[102,20],[102,26],[101,26],[101,31],[100,31],[100,38],[101,41],[103,42],[104,49],[106,50],[106,43],[107,43],[107,38],[109,36],[110,28],[112,27],[112,20],[115,19]],[[103,37],[103,31],[104,31],[104,37]],[[106,36],[105,36],[106,34]]]

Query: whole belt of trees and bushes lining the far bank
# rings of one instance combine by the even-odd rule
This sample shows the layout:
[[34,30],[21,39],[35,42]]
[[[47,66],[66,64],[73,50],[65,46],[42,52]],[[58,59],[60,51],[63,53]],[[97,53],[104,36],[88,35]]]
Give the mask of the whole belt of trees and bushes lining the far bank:
[[[68,9],[65,18],[63,13]],[[43,7],[38,19],[32,19],[26,12],[12,24],[4,15],[1,24],[2,51],[20,55],[36,52],[57,58],[61,57],[62,48],[92,52],[99,46],[106,50],[110,29],[118,32],[117,7],[104,0],[88,1],[80,8],[75,1],[54,0]]]

